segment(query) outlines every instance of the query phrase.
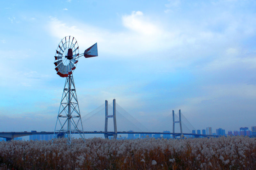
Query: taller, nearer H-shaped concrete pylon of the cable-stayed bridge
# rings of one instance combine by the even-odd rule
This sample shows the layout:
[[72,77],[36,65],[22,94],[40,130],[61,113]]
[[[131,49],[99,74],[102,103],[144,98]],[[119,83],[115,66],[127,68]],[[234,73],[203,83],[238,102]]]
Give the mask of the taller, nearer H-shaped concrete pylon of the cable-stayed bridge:
[[[108,133],[108,118],[112,118],[114,121],[114,133]],[[105,134],[104,137],[108,139],[109,136],[113,136],[114,139],[117,137],[116,129],[116,99],[113,100],[113,115],[108,115],[108,100],[105,100]]]

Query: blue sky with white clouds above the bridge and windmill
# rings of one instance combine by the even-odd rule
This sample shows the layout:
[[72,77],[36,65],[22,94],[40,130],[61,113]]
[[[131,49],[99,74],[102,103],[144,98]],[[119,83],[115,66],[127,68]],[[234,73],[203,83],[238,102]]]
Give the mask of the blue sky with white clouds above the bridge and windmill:
[[[53,130],[60,40],[95,42],[74,71],[80,111],[116,102],[145,126],[181,109],[196,128],[256,126],[256,2],[1,1],[0,131]],[[153,122],[153,123],[152,123]],[[166,129],[164,129],[166,130]]]

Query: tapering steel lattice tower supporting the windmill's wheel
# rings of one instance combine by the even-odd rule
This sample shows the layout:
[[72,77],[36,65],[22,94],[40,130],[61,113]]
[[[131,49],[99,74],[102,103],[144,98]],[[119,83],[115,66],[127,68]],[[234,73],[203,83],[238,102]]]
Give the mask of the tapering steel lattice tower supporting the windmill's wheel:
[[[82,129],[78,129],[78,124],[80,123]],[[71,74],[66,78],[64,85],[54,134],[57,134],[56,137],[67,137],[68,144],[70,145],[75,133],[78,133],[85,142],[75,83],[73,74]]]

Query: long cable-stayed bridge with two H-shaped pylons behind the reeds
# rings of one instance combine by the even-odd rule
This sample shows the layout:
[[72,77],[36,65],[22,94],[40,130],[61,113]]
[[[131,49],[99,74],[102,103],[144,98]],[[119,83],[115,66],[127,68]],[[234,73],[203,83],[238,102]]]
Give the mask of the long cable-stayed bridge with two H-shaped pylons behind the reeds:
[[[112,114],[113,111],[113,114]],[[184,137],[184,135],[194,136],[194,137],[218,137],[216,135],[205,135],[205,134],[193,134],[192,130],[195,129],[190,122],[185,118],[184,115],[179,111],[179,116],[173,113],[165,117],[157,128],[154,130],[149,130],[143,126],[139,121],[137,121],[132,115],[126,112],[120,105],[113,100],[113,103],[105,104],[96,108],[89,114],[82,117],[82,124],[84,131],[74,131],[73,134],[104,134],[105,138],[113,136],[117,138],[117,134],[143,134],[146,135],[172,135],[175,137]],[[175,125],[179,126],[175,126]],[[81,126],[81,125],[80,125]],[[78,126],[80,129],[81,127]],[[82,128],[81,128],[82,129]],[[175,129],[178,129],[176,132]],[[165,131],[163,131],[165,130]],[[162,131],[162,132],[161,132]],[[12,140],[15,137],[22,137],[28,135],[47,135],[56,134],[58,137],[64,137],[65,132],[0,132],[0,137],[6,138],[6,141]]]

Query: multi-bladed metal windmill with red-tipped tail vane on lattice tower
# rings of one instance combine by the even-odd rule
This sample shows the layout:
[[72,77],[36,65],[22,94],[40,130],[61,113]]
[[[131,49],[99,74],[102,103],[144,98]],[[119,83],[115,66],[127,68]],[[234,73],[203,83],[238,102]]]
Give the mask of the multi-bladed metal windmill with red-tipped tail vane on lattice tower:
[[[74,134],[79,134],[85,142],[84,129],[73,79],[73,71],[76,69],[78,58],[81,56],[85,58],[98,56],[97,43],[87,48],[83,54],[79,54],[76,39],[72,36],[66,36],[60,41],[54,56],[57,74],[60,77],[66,78],[54,134],[57,134],[57,137],[66,136],[69,145],[72,142],[72,136]],[[80,123],[82,129],[78,129]]]

